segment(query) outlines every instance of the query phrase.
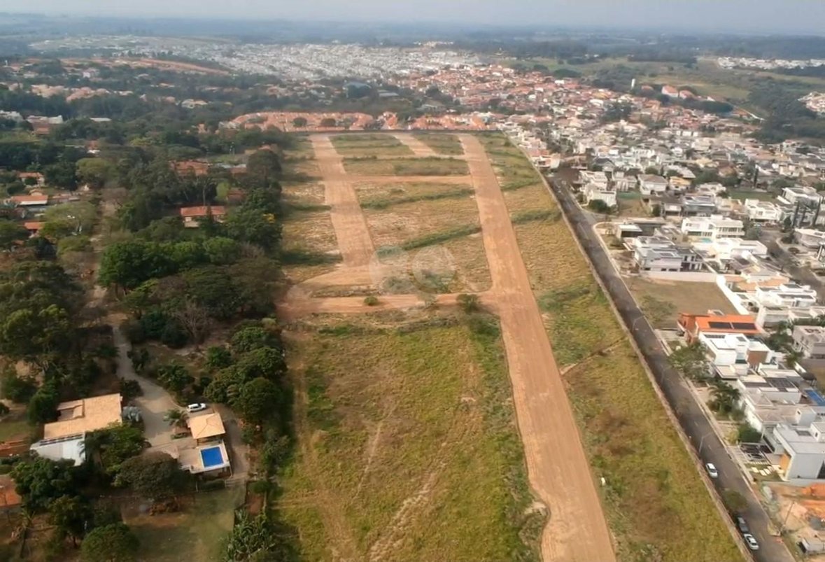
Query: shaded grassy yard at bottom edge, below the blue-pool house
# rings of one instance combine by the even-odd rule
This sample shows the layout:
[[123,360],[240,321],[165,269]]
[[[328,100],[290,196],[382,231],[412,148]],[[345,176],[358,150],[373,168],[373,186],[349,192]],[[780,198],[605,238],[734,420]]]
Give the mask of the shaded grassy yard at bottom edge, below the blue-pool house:
[[125,513],[125,523],[140,541],[139,560],[222,560],[224,539],[243,494],[239,486],[196,494],[180,512]]

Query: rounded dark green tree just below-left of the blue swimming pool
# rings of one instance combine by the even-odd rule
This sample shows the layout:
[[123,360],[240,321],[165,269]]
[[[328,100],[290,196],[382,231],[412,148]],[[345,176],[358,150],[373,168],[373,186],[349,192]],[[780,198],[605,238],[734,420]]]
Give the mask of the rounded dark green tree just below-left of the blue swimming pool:
[[176,459],[158,451],[125,460],[115,484],[127,486],[143,498],[162,502],[180,494],[190,477]]

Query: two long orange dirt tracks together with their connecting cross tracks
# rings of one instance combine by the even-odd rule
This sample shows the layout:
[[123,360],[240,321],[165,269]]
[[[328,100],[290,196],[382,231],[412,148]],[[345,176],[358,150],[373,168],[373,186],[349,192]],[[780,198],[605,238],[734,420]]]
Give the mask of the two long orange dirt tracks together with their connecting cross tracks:
[[[281,313],[287,319],[304,314],[356,314],[386,307],[421,305],[417,295],[382,295],[379,305],[364,304],[363,297],[312,298],[314,290],[328,286],[370,285],[368,264],[373,244],[355,182],[422,181],[410,177],[353,177],[343,170],[326,135],[313,135],[318,166],[323,174],[332,225],[344,257],[335,272],[305,281],[290,290]],[[541,537],[543,560],[559,562],[611,562],[615,560],[610,531],[601,511],[587,457],[573,411],[556,366],[541,314],[530,287],[510,214],[497,177],[482,144],[472,135],[460,135],[469,177],[425,177],[423,181],[453,180],[474,184],[482,236],[487,254],[491,290],[479,295],[495,310],[502,324],[502,339],[513,389],[521,440],[524,444],[530,487],[549,509],[549,522]],[[439,305],[455,304],[456,295],[438,295]]]

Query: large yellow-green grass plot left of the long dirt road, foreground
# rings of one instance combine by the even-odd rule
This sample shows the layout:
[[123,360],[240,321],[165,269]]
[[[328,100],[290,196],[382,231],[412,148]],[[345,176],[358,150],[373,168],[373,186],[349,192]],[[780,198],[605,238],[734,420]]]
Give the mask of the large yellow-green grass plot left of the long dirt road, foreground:
[[392,314],[285,332],[299,444],[278,507],[301,558],[537,560],[497,322]]

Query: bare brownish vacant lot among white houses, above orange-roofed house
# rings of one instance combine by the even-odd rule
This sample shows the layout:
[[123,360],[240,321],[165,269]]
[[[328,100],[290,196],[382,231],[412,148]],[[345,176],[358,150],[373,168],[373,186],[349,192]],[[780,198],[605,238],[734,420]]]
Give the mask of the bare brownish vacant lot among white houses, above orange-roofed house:
[[680,312],[707,314],[708,310],[721,310],[724,314],[737,314],[715,283],[637,278],[625,283],[654,328],[676,328]]

